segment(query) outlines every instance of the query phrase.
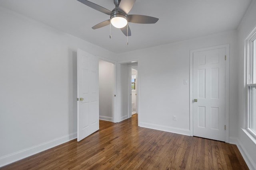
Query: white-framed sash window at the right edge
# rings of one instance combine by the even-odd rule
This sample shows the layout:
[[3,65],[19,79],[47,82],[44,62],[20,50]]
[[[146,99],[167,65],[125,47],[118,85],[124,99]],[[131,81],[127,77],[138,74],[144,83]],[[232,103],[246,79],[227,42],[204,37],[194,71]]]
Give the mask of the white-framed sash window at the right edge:
[[248,130],[256,136],[256,28],[246,39]]

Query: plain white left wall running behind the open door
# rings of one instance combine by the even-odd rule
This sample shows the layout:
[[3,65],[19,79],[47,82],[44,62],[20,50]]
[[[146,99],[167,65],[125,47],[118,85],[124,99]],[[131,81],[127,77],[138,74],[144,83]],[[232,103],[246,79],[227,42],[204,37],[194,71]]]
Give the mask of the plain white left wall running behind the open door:
[[76,138],[76,50],[116,54],[0,8],[0,166]]

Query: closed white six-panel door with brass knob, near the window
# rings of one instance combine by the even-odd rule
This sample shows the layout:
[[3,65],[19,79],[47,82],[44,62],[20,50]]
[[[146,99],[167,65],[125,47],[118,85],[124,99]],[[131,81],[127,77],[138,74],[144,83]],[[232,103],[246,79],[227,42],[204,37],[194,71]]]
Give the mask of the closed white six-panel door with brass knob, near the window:
[[194,136],[225,141],[226,49],[193,53]]

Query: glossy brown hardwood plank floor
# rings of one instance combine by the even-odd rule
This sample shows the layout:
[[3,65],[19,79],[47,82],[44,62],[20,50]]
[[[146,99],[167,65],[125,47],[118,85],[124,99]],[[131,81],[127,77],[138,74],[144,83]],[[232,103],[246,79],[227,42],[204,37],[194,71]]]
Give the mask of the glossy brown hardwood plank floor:
[[[236,145],[138,127],[137,115],[8,166],[20,169],[247,170]],[[1,169],[1,168],[0,168]]]

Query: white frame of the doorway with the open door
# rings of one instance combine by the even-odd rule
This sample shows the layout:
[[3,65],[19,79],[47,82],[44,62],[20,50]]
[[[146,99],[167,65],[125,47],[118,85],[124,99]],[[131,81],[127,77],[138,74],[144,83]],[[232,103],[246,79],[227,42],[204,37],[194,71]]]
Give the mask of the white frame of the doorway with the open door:
[[[117,75],[116,75],[117,62],[107,59],[107,58],[104,58],[104,57],[99,57],[99,59],[114,64],[114,87],[113,87],[114,94],[113,95],[116,95],[117,94],[117,81],[116,81],[117,80]],[[116,96],[113,96],[113,106],[112,107],[113,107],[112,122],[117,123],[118,119],[117,119],[117,98],[116,98]]]

